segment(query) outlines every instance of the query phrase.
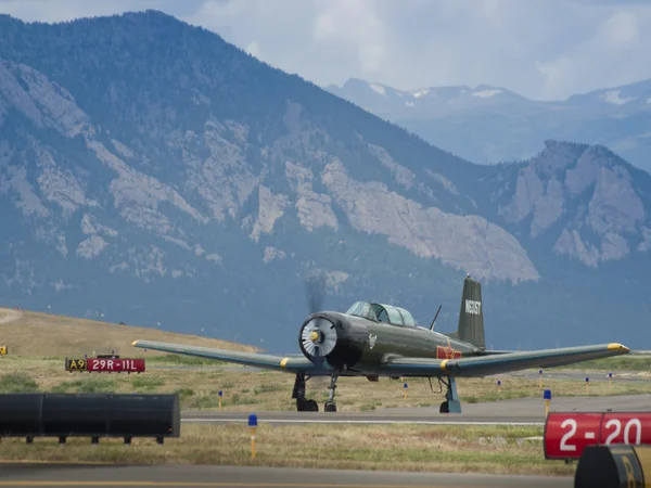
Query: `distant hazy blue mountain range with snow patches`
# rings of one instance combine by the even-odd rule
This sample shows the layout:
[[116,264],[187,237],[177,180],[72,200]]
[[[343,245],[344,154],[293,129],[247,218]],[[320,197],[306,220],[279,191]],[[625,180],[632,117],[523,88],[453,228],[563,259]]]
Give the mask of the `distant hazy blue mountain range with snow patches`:
[[607,145],[651,171],[651,80],[537,102],[478,86],[394,90],[359,79],[327,89],[477,163],[533,157],[547,139]]

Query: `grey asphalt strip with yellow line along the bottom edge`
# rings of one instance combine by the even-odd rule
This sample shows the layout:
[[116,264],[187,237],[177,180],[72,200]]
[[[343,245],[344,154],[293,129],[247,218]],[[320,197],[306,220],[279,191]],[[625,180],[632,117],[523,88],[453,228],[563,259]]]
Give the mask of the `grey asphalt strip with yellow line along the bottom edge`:
[[572,477],[235,466],[0,464],[0,487],[570,488]]

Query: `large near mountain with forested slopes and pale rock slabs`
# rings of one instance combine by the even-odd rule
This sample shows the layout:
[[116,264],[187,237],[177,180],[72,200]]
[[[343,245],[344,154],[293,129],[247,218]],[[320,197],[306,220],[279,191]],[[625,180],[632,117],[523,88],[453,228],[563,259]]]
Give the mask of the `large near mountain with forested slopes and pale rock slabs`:
[[643,342],[651,181],[603,146],[476,165],[155,11],[0,28],[3,305],[297,351],[310,275],[455,330],[471,273],[497,348]]

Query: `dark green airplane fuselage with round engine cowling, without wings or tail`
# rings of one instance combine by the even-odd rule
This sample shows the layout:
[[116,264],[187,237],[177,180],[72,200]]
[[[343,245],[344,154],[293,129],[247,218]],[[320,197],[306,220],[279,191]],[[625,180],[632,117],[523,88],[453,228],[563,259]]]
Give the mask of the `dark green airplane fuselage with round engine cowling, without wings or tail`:
[[[476,356],[481,349],[463,341],[420,326],[400,326],[340,312],[315,313],[304,322],[327,320],[336,332],[336,342],[324,359],[348,374],[376,374],[391,356],[452,359]],[[301,344],[301,334],[299,334]],[[304,355],[310,357],[302,347]]]

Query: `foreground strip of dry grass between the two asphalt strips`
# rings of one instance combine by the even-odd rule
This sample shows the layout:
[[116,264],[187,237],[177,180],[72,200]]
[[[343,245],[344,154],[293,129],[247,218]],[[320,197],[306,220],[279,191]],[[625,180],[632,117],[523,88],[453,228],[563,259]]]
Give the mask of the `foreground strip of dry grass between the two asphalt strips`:
[[482,472],[566,475],[575,466],[546,461],[538,427],[459,427],[418,425],[272,426],[256,432],[256,459],[245,425],[183,424],[181,437],[157,446],[133,439],[131,448],[117,439],[71,438],[65,449],[56,439],[2,439],[2,460],[108,461],[119,464],[224,464],[288,467],[365,468],[421,472]]

